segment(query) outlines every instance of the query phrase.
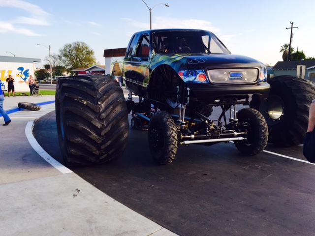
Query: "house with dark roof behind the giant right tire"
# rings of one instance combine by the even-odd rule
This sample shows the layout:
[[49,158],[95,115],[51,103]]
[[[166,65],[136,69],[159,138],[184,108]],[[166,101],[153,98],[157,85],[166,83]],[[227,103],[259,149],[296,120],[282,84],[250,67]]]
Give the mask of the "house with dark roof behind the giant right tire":
[[315,60],[278,61],[270,70],[270,77],[279,75],[292,75],[315,82]]

